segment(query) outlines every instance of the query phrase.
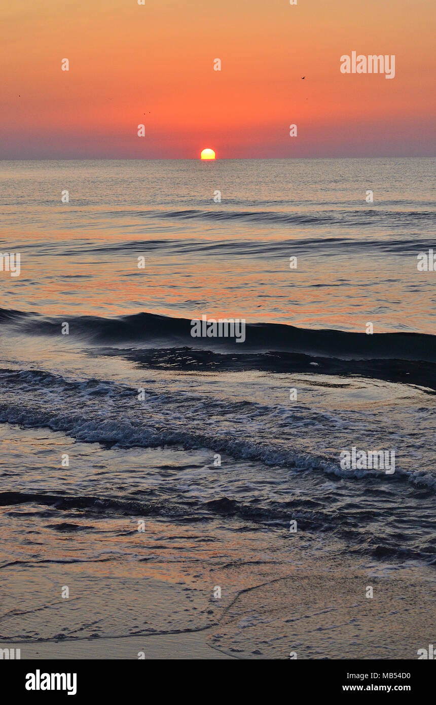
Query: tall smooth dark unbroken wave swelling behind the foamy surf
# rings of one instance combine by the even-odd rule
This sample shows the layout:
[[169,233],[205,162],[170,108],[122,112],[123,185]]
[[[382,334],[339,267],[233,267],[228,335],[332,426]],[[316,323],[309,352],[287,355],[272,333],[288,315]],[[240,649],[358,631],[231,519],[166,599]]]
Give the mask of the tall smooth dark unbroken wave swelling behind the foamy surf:
[[[193,314],[193,319],[197,318]],[[246,326],[244,343],[235,338],[193,338],[191,320],[152,313],[137,313],[113,318],[97,316],[43,317],[11,309],[0,309],[0,322],[13,324],[27,334],[56,335],[67,321],[70,336],[95,344],[136,343],[144,348],[187,345],[192,348],[244,351],[289,351],[306,355],[335,357],[341,360],[403,360],[436,363],[436,336],[426,333],[352,333],[329,329],[302,329],[276,323],[251,323]],[[430,376],[431,379],[431,376]]]

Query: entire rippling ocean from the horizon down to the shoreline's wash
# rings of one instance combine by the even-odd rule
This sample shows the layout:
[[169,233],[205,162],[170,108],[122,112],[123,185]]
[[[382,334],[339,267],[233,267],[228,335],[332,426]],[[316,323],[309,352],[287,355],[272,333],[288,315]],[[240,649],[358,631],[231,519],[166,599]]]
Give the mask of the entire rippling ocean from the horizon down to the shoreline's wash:
[[[432,643],[436,275],[418,262],[436,252],[434,173],[0,162],[3,644]],[[192,337],[202,316],[244,319],[244,341]],[[353,448],[394,472],[344,467]]]

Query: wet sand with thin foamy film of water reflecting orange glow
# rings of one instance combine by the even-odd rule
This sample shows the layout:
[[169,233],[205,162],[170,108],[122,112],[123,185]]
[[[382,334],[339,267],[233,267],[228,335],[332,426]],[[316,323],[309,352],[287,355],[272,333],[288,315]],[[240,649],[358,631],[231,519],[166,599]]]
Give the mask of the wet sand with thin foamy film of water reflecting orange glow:
[[434,641],[430,568],[363,568],[339,555],[322,570],[266,556],[173,558],[5,566],[1,648],[21,658],[413,659]]

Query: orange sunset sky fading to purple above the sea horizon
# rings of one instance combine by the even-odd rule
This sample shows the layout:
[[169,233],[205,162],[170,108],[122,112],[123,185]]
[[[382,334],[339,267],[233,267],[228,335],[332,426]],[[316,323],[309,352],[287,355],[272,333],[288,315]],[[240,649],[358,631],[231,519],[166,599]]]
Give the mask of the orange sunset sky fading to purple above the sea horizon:
[[[0,158],[431,156],[435,6],[4,0]],[[395,78],[340,73],[353,50]]]

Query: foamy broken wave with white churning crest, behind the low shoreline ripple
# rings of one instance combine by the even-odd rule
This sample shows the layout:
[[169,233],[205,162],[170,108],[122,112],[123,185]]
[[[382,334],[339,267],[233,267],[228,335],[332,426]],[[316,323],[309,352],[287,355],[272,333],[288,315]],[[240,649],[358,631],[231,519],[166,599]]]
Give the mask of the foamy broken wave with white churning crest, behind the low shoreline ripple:
[[[292,436],[283,437],[285,427],[288,434],[292,427],[299,434],[304,427],[312,432],[318,429],[318,433],[330,427],[331,433],[335,419],[326,412],[294,410],[283,420],[284,427],[281,428],[277,409],[266,404],[229,403],[227,399],[211,400],[201,394],[187,398],[182,393],[147,390],[144,391],[147,398],[142,417],[138,416],[137,389],[111,381],[77,381],[42,370],[0,369],[0,382],[4,390],[0,403],[1,423],[49,428],[77,441],[102,446],[208,448],[211,453],[261,462],[266,467],[324,472],[355,480],[368,477],[380,482],[386,480],[385,474],[376,470],[342,470],[332,455],[293,448]],[[4,400],[6,393],[11,401]],[[17,395],[29,400],[17,404],[14,401]],[[189,417],[189,422],[181,422],[181,412]],[[213,430],[207,422],[208,415],[213,415]],[[253,427],[247,427],[243,436],[239,432],[242,415],[253,422]],[[259,424],[265,427],[263,435]],[[405,470],[398,461],[395,475],[392,479],[389,477],[388,482],[404,480],[431,491],[436,489],[436,475],[425,470]]]

